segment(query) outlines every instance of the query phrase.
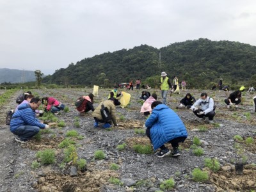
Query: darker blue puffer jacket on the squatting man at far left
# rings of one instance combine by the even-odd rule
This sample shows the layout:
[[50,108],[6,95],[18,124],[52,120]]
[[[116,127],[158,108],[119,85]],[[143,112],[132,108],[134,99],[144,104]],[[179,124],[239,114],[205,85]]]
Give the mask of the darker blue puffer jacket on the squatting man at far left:
[[21,125],[31,125],[41,129],[45,128],[45,124],[41,124],[35,117],[35,111],[31,109],[29,104],[20,104],[18,110],[12,115],[10,131],[15,131]]

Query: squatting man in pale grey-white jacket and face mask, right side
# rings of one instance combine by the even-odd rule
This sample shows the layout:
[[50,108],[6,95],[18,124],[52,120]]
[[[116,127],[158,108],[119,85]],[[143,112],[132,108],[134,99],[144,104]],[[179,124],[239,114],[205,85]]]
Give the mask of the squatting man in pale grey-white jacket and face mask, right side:
[[[196,106],[200,106],[198,109]],[[209,118],[209,123],[213,124],[213,117],[215,116],[214,100],[207,96],[207,93],[201,93],[201,98],[196,100],[196,102],[191,106],[193,113],[205,120],[205,116]]]

